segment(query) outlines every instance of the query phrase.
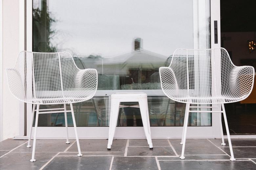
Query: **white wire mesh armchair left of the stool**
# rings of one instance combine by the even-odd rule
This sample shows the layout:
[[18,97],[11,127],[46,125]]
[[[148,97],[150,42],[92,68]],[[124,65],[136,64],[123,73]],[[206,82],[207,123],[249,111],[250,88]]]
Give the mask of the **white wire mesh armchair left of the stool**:
[[[64,112],[65,126],[68,138],[67,112],[72,113],[78,155],[82,156],[77,136],[75,116],[72,103],[91,99],[97,89],[96,69],[79,69],[74,59],[67,52],[37,53],[22,51],[17,59],[15,68],[7,69],[8,84],[11,93],[19,100],[32,103],[32,122],[27,147],[30,140],[36,105],[34,140],[31,162],[34,162],[36,130],[38,114]],[[40,105],[63,104],[63,108],[39,109]],[[71,110],[66,109],[70,104]],[[53,110],[53,111],[50,111]]]

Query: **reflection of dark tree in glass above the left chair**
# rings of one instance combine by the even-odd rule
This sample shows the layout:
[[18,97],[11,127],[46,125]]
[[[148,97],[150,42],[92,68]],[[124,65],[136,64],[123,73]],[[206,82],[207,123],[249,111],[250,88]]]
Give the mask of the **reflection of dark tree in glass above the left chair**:
[[42,0],[42,8],[33,9],[33,51],[35,52],[57,52],[56,46],[50,42],[56,34],[56,30],[51,29],[51,24],[56,22],[50,17],[47,8],[47,1]]

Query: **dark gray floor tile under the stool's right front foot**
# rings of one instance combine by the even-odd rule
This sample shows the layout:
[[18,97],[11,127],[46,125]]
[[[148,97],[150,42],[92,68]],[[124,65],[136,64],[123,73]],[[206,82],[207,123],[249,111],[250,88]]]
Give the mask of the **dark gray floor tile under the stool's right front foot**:
[[175,156],[170,146],[149,147],[128,147],[127,156]]

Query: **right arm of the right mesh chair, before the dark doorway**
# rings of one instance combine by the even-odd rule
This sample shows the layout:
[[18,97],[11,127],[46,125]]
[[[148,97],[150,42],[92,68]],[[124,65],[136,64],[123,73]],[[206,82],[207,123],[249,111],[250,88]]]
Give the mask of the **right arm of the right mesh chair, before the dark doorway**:
[[235,66],[230,73],[230,90],[236,97],[245,99],[251,93],[254,83],[252,66]]

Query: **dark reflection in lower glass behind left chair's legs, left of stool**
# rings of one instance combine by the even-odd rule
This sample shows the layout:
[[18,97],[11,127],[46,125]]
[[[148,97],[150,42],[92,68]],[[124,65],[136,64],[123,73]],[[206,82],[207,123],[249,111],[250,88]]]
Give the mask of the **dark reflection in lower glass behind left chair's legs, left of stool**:
[[[40,109],[61,107],[63,105],[40,105]],[[73,103],[73,108],[77,127],[108,126],[108,97],[94,97],[91,100]],[[67,110],[70,110],[68,104]],[[68,126],[73,126],[71,112],[67,113],[67,118]],[[39,114],[38,126],[65,127],[64,113]]]

